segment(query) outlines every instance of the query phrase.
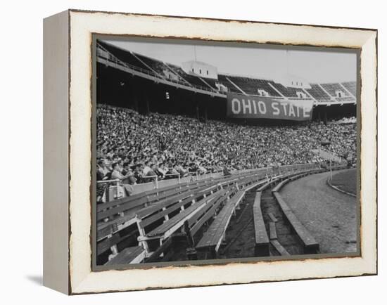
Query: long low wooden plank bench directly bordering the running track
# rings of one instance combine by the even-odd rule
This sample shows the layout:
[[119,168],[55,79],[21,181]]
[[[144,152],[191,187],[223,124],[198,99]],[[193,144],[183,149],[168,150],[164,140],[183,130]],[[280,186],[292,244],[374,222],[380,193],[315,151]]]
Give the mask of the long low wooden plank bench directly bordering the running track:
[[307,231],[307,228],[305,228],[305,226],[300,223],[296,215],[293,214],[293,211],[290,209],[290,207],[288,207],[281,195],[279,195],[279,193],[277,192],[274,192],[273,195],[276,198],[279,206],[281,207],[282,212],[284,212],[288,223],[290,223],[291,227],[303,243],[304,254],[318,253],[319,244],[318,242],[316,242],[315,238],[313,238],[309,231]]

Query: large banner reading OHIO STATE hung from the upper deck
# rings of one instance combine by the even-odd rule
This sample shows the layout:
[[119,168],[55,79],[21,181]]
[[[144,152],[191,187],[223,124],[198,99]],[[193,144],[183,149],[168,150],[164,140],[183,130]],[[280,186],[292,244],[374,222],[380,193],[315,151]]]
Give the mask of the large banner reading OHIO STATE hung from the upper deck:
[[281,100],[227,93],[227,117],[245,119],[312,119],[313,100]]

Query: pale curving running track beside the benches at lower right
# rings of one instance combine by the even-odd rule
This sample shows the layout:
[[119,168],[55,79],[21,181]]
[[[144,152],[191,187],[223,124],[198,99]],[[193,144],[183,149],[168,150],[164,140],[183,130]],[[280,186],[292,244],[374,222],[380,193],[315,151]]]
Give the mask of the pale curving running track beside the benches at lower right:
[[328,186],[329,175],[315,174],[288,183],[281,195],[319,242],[322,253],[356,252],[357,199]]

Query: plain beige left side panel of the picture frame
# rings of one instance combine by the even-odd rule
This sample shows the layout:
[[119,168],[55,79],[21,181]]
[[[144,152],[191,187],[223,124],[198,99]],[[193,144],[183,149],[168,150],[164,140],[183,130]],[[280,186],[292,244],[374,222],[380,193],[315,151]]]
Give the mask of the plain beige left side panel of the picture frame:
[[43,285],[64,294],[70,294],[69,22],[69,11],[43,20]]

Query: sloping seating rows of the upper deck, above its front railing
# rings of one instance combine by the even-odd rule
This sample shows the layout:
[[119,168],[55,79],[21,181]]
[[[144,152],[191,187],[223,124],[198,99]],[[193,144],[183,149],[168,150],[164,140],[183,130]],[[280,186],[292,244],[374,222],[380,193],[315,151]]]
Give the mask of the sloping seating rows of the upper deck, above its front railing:
[[[103,50],[103,51],[102,51]],[[120,60],[127,67],[135,70],[144,71],[147,74],[153,74],[154,77],[165,78],[165,72],[175,74],[175,77],[167,78],[170,82],[179,82],[192,88],[205,91],[220,91],[216,84],[222,84],[227,87],[227,91],[235,93],[246,93],[248,95],[260,95],[258,90],[264,90],[269,96],[277,98],[298,98],[297,92],[304,92],[306,98],[313,98],[317,103],[345,103],[355,102],[356,82],[329,83],[329,84],[310,84],[310,89],[298,89],[286,87],[283,84],[267,79],[255,79],[251,77],[239,77],[225,74],[218,74],[218,79],[199,77],[194,74],[187,74],[177,65],[163,63],[160,60],[148,58],[138,53],[126,51],[99,41],[99,56],[109,60]],[[342,92],[342,96],[336,94]],[[222,93],[222,91],[220,92]],[[349,98],[350,97],[350,98]]]

